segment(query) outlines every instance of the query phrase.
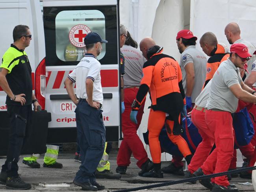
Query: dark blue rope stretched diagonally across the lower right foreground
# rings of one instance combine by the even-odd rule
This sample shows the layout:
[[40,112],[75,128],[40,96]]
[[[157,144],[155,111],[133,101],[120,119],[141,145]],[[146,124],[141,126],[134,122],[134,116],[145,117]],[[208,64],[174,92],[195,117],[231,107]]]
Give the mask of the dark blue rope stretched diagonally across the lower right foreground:
[[191,177],[191,178],[188,178],[188,179],[180,179],[180,180],[177,180],[177,181],[167,181],[167,182],[164,182],[164,183],[158,183],[158,184],[154,184],[154,185],[147,185],[147,186],[140,186],[140,187],[135,187],[135,188],[130,188],[130,189],[116,190],[116,191],[112,191],[112,192],[130,192],[130,191],[144,190],[144,189],[156,188],[156,187],[161,187],[161,186],[187,183],[187,182],[191,182],[191,181],[197,181],[197,180],[200,180],[200,179],[208,179],[208,178],[212,178],[212,177],[219,177],[219,176],[223,176],[223,175],[227,175],[227,174],[230,174],[230,175],[231,174],[238,174],[240,172],[245,172],[245,171],[249,171],[249,170],[256,170],[256,166],[231,170],[231,171],[227,171],[227,172],[221,172],[221,173],[217,173],[217,174]]

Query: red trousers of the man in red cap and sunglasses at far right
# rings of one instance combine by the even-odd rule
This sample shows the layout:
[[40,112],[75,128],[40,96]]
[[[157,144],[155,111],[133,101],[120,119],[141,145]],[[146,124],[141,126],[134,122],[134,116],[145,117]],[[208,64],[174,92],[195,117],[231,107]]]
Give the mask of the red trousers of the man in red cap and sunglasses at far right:
[[[208,156],[201,168],[206,175],[225,172],[230,166],[234,152],[234,133],[231,113],[207,110],[205,112],[205,121],[211,130],[208,133],[208,137],[214,137],[216,148]],[[215,177],[211,181],[218,185],[229,185],[226,175]]]

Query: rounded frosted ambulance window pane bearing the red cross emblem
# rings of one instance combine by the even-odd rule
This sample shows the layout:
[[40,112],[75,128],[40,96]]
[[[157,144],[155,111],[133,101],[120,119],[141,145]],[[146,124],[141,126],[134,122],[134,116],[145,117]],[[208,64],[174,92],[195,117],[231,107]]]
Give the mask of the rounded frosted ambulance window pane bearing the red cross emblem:
[[[105,17],[98,10],[61,11],[56,16],[55,27],[56,54],[62,61],[80,61],[83,58],[83,39],[89,32],[97,32],[106,39]],[[102,44],[102,52],[97,59],[102,59],[105,53],[106,46]]]

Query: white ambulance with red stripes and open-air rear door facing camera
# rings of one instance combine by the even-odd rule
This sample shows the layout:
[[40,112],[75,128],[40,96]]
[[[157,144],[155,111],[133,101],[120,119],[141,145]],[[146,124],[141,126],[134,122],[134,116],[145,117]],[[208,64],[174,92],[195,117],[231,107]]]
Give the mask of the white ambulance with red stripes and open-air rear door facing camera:
[[[16,25],[30,27],[32,41],[25,51],[32,67],[35,96],[51,117],[48,127],[40,128],[48,131],[47,143],[76,142],[76,106],[63,82],[82,59],[83,39],[89,32],[97,32],[108,41],[97,57],[102,64],[103,120],[107,141],[118,141],[119,0],[0,0],[0,15],[5,19],[0,30],[0,55],[13,42],[12,30]],[[8,136],[5,100],[6,93],[0,89],[0,148],[6,145],[2,138]],[[34,126],[40,127],[36,123]]]

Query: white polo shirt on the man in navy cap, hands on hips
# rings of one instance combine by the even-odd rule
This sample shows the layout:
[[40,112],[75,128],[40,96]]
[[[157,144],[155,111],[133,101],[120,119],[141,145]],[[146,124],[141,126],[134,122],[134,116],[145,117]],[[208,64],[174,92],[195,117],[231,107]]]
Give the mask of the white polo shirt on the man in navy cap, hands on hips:
[[103,94],[100,79],[100,62],[93,54],[85,54],[85,57],[76,65],[68,78],[76,82],[76,96],[87,99],[85,81],[87,78],[93,80],[93,101],[103,103]]

